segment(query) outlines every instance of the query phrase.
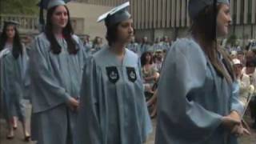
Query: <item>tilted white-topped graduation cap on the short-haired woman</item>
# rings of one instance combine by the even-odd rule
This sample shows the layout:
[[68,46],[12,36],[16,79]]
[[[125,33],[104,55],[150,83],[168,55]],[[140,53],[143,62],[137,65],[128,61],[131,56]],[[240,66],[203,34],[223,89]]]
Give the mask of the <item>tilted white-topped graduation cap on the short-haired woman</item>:
[[97,22],[102,22],[104,20],[106,26],[112,26],[118,22],[129,19],[130,13],[127,10],[128,6],[130,6],[130,2],[125,2],[120,6],[114,7],[112,10],[99,16]]

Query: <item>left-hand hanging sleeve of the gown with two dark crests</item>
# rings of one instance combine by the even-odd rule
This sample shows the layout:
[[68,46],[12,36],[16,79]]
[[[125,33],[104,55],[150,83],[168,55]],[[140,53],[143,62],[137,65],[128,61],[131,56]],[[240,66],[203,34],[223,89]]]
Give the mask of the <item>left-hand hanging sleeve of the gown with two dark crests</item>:
[[78,114],[78,144],[102,144],[102,132],[99,124],[98,97],[101,78],[94,58],[86,59],[80,93]]

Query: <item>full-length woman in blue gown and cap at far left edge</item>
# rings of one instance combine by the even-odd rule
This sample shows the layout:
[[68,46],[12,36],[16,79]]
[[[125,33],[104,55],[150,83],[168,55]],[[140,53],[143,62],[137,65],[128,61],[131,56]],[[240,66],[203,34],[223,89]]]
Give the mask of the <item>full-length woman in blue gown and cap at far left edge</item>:
[[26,130],[26,107],[24,103],[24,84],[27,67],[26,48],[19,38],[18,22],[6,21],[0,36],[1,96],[2,112],[9,127],[7,138],[14,138],[15,117],[22,122],[26,141],[30,134]]

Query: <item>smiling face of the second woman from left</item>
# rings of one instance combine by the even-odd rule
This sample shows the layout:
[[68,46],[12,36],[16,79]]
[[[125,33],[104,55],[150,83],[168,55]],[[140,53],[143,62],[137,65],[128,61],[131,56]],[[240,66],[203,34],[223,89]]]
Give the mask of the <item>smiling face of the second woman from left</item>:
[[55,28],[65,28],[68,22],[68,14],[65,6],[57,6],[51,17],[51,22]]

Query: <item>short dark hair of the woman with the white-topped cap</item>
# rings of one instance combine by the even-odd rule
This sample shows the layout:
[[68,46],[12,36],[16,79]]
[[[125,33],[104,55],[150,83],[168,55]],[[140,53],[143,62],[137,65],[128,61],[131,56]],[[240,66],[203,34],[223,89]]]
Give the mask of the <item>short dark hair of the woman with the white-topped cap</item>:
[[121,22],[114,24],[113,26],[106,26],[106,40],[109,46],[112,46],[118,38],[118,25]]

